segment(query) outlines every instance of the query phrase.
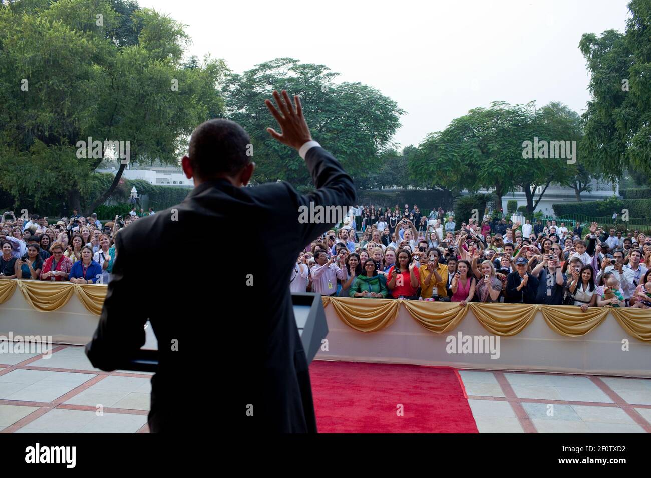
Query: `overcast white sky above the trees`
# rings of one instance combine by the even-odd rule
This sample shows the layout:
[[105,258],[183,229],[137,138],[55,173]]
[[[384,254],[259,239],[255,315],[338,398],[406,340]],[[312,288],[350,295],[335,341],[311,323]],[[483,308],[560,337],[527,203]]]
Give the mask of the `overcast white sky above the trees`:
[[138,3],[187,25],[190,55],[210,53],[236,73],[290,57],[340,73],[335,83],[377,88],[408,113],[395,135],[403,147],[491,101],[583,113],[581,35],[623,33],[629,17],[628,0]]

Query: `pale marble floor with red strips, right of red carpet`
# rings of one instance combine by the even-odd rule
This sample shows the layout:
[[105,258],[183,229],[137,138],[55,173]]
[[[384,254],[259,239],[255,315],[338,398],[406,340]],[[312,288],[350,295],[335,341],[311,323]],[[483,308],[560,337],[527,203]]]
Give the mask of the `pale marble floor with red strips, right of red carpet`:
[[651,379],[460,370],[480,433],[649,433]]

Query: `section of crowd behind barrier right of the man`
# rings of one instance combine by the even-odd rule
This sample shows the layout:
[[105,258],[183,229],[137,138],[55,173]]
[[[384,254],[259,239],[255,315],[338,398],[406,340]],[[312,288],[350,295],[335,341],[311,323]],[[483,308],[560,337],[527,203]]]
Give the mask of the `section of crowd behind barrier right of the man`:
[[[593,222],[458,224],[442,208],[354,207],[299,254],[292,292],[332,297],[651,308],[651,237]],[[356,220],[355,217],[358,219]],[[356,222],[361,218],[360,228]]]

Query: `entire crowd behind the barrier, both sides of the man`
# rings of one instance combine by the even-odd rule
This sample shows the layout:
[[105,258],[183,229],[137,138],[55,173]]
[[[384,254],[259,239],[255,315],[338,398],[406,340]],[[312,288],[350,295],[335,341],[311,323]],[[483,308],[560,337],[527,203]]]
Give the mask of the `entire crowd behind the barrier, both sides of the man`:
[[[150,209],[148,214],[154,214]],[[102,223],[95,214],[49,224],[4,213],[0,280],[108,284],[115,237],[148,215]],[[361,218],[359,230],[355,217]],[[584,234],[585,232],[585,234]],[[439,302],[651,308],[651,237],[596,223],[531,224],[472,219],[457,224],[442,208],[355,207],[299,255],[292,292],[337,297]]]

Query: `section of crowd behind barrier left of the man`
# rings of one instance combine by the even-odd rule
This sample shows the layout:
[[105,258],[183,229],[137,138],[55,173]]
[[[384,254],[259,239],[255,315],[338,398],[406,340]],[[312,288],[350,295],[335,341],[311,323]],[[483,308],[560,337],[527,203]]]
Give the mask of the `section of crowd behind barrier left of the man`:
[[153,215],[136,207],[126,219],[104,225],[93,213],[72,215],[49,224],[47,217],[28,220],[11,212],[0,217],[0,280],[49,280],[73,284],[108,284],[115,261],[115,237],[135,220]]

